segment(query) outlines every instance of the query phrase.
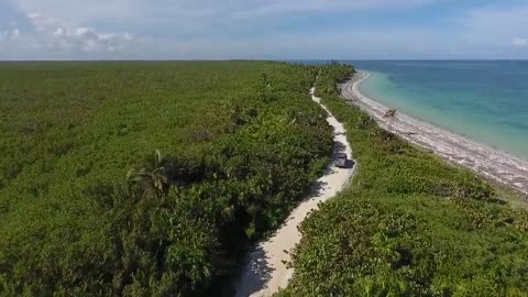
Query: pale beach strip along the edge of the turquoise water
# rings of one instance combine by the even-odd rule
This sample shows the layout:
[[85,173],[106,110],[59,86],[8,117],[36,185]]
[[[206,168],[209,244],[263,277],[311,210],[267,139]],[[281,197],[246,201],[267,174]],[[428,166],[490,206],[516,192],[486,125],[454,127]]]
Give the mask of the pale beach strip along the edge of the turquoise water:
[[[367,78],[366,72],[355,74],[351,80],[340,86],[341,95],[349,105],[367,112],[383,129],[388,130],[387,121],[384,119],[388,108],[359,90],[359,85]],[[448,162],[465,166],[528,195],[528,161],[400,112],[392,120],[391,131],[415,145],[435,152]]]

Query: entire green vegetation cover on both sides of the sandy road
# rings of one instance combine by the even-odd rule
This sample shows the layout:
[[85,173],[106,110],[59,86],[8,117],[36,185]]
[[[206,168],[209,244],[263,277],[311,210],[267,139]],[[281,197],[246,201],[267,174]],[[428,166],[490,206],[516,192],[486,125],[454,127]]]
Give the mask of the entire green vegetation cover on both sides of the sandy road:
[[278,295],[527,296],[528,212],[346,106],[352,72],[0,64],[0,296],[211,295],[328,162],[318,74],[359,168]]

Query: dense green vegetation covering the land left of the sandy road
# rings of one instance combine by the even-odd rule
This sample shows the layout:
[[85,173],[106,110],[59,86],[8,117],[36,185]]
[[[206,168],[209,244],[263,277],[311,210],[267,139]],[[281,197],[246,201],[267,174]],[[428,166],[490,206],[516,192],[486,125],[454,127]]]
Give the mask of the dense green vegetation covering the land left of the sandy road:
[[207,294],[331,155],[316,75],[0,64],[0,295]]

